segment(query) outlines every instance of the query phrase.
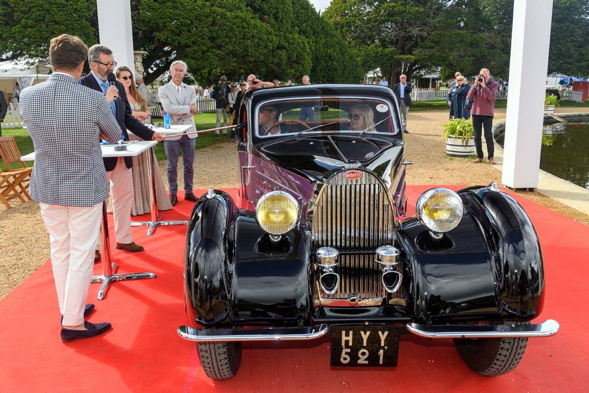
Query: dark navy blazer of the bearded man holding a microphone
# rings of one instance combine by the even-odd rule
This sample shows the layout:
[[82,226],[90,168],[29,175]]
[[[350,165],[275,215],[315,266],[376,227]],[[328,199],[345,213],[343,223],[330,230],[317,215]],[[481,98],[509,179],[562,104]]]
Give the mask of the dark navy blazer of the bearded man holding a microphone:
[[[96,78],[94,78],[94,75],[92,74],[82,77],[80,79],[80,84],[102,93],[102,88],[98,85]],[[117,86],[118,89],[118,98],[117,101],[115,101],[115,109],[117,110],[117,123],[118,126],[121,127],[121,132],[125,136],[125,141],[129,140],[129,134],[127,133],[127,130],[131,130],[133,134],[143,140],[150,141],[154,131],[151,131],[150,128],[146,127],[131,114],[131,105],[129,105],[129,102],[127,101],[127,93],[125,93],[123,84],[119,81],[115,81],[115,86]],[[113,170],[114,167],[117,166],[117,157],[102,159],[104,160],[104,169],[106,169],[107,172]],[[127,168],[133,167],[133,158],[125,157],[125,165]]]

